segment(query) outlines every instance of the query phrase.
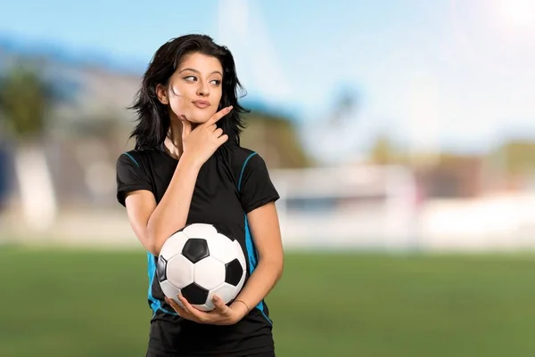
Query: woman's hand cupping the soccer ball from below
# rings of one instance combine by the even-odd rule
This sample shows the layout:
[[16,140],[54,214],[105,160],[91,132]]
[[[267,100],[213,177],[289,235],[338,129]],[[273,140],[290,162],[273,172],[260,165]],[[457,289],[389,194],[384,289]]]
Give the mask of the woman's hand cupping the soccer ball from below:
[[178,294],[178,300],[183,304],[182,308],[173,299],[169,297],[165,298],[168,303],[182,318],[192,320],[197,323],[210,324],[210,325],[234,325],[249,312],[245,304],[235,302],[230,306],[223,304],[223,300],[219,296],[214,296],[212,301],[216,305],[216,308],[210,312],[203,312],[193,307],[188,303],[182,294]]

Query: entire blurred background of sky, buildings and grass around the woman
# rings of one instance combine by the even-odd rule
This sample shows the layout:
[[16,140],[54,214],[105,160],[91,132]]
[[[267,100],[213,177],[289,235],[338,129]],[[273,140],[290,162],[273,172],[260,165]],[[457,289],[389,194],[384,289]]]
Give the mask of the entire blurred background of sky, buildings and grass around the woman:
[[115,0],[0,10],[0,355],[141,356],[115,199],[152,54],[235,55],[281,194],[280,356],[535,353],[535,2]]

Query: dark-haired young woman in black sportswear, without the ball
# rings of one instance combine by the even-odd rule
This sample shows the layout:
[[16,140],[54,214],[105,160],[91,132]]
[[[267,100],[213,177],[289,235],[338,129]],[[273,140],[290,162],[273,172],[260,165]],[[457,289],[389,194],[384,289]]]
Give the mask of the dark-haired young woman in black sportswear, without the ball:
[[[240,146],[245,111],[226,47],[177,37],[154,54],[133,109],[135,150],[117,161],[117,199],[147,251],[152,308],[147,356],[275,356],[265,296],[283,272],[283,247],[264,160]],[[238,239],[247,280],[230,304],[202,312],[167,299],[155,279],[161,246],[189,223],[213,223]]]

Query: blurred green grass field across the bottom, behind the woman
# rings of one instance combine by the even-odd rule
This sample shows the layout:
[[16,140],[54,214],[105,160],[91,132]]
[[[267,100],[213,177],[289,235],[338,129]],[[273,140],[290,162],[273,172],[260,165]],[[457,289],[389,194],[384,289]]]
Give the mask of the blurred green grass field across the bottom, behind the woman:
[[[2,247],[0,356],[144,356],[144,252]],[[533,256],[289,254],[279,357],[535,354]]]

